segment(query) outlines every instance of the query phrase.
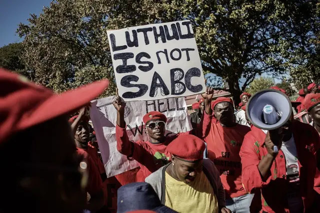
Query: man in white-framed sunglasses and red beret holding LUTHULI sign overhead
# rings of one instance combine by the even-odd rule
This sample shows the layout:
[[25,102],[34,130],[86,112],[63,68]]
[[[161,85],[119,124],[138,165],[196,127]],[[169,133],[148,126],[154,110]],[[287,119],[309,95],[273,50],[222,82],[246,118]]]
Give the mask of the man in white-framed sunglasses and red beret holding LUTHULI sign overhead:
[[141,168],[141,179],[147,177],[152,172],[166,164],[170,159],[170,154],[166,151],[166,146],[176,137],[182,134],[193,134],[199,138],[204,138],[208,133],[211,122],[211,99],[213,88],[206,87],[202,94],[204,99],[204,113],[200,124],[196,129],[188,132],[177,133],[165,136],[166,117],[164,114],[152,111],[143,116],[145,124],[145,133],[148,135],[148,141],[130,141],[126,134],[126,125],[124,122],[125,103],[116,96],[113,106],[117,110],[117,126],[115,129],[117,150],[121,153],[136,160]]

